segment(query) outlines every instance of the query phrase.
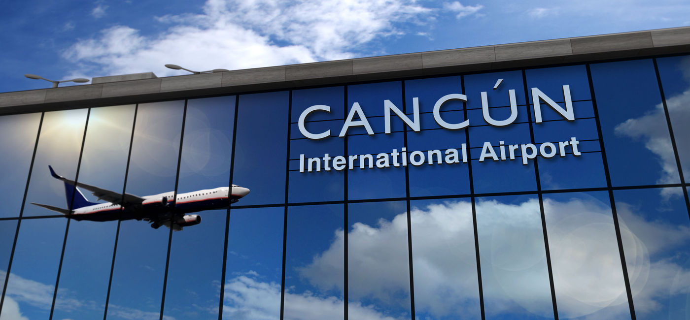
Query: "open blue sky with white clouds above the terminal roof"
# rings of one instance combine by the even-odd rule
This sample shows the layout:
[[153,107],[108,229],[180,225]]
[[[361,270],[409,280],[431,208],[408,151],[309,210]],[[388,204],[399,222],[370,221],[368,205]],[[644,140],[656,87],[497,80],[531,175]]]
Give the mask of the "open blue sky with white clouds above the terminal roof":
[[690,24],[664,1],[8,1],[0,92],[26,79],[279,66]]

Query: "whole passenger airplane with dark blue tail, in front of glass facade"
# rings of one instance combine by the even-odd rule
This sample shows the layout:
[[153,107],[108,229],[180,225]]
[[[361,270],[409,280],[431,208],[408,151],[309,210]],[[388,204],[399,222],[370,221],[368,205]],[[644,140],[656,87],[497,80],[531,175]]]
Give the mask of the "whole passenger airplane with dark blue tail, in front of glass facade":
[[[65,195],[67,208],[57,208],[47,204],[33,203],[36,206],[65,214],[68,219],[77,221],[115,221],[115,220],[144,220],[151,223],[151,228],[160,226],[179,231],[182,227],[194,226],[201,223],[199,214],[188,214],[204,210],[226,209],[230,203],[239,201],[249,193],[248,188],[232,185],[232,188],[219,187],[213,189],[197,190],[177,194],[175,192],[163,192],[150,196],[139,197],[134,194],[121,194],[110,190],[90,186],[86,183],[72,181],[55,173],[51,166],[50,174],[55,179],[65,183]],[[98,200],[109,201],[106,203],[91,202],[84,197],[79,188],[92,192]],[[75,192],[76,191],[76,192]],[[73,198],[73,199],[72,199]],[[70,206],[70,202],[72,205]]]

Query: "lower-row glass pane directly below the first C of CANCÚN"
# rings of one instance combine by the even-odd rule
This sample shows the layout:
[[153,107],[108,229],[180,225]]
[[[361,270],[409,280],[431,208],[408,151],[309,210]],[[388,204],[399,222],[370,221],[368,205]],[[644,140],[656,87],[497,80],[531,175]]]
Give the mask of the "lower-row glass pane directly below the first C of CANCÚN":
[[288,209],[285,319],[344,316],[344,222],[342,204]]

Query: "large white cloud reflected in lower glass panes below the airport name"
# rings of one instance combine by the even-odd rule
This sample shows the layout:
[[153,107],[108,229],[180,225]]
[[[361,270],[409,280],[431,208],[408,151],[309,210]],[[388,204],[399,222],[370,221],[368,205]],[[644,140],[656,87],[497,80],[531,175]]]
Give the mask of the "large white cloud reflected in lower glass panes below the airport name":
[[[582,317],[595,314],[596,317],[622,317],[628,312],[627,298],[620,268],[618,256],[618,244],[615,241],[613,231],[613,219],[611,210],[604,203],[596,199],[570,199],[569,201],[544,201],[546,211],[547,228],[549,230],[549,245],[551,246],[551,259],[553,265],[553,277],[556,283],[559,315],[562,318]],[[519,204],[506,204],[497,201],[477,202],[477,212],[503,212],[495,215],[495,220],[486,223],[506,224],[515,228],[525,228],[526,214],[539,210],[538,201],[531,199]],[[465,213],[463,213],[465,212]],[[434,204],[426,208],[415,208],[412,212],[412,228],[415,230],[413,241],[424,250],[414,252],[413,263],[415,280],[423,280],[426,288],[415,292],[415,307],[417,310],[426,310],[434,317],[444,317],[449,314],[462,314],[462,306],[472,306],[473,297],[468,292],[476,292],[476,278],[468,276],[475,274],[475,266],[472,264],[458,266],[449,263],[447,249],[444,247],[447,239],[460,238],[463,234],[472,234],[471,204],[469,201],[446,201],[442,204]],[[633,288],[645,286],[656,288],[647,290],[647,294],[635,297],[635,307],[640,313],[655,310],[661,299],[667,297],[662,288],[667,285],[664,277],[675,277],[674,292],[678,294],[690,288],[690,270],[660,257],[664,248],[669,248],[682,241],[690,239],[690,230],[685,226],[668,226],[658,221],[647,221],[641,214],[627,210],[622,212],[626,223],[622,223],[622,233],[626,248],[629,243],[637,243],[638,247],[646,249],[638,252],[626,252],[629,261],[638,261],[635,268],[629,270]],[[398,250],[400,241],[406,241],[406,214],[398,214],[392,221],[380,220],[376,226],[368,226],[364,223],[355,223],[350,231],[351,241],[348,247],[348,261],[353,265],[355,272],[351,279],[358,281],[359,292],[368,292],[377,303],[395,304],[391,299],[391,292],[395,290],[408,291],[408,278],[406,272],[395,270],[382,270],[377,268],[381,259],[395,259],[405,261],[406,250]],[[537,227],[535,227],[537,228]],[[488,228],[479,227],[480,239],[483,237],[502,237],[500,234],[482,234]],[[528,228],[531,230],[530,228]],[[653,234],[664,234],[663,237],[654,237]],[[313,261],[305,266],[301,273],[311,283],[321,290],[339,288],[342,286],[342,270],[337,261],[342,261],[344,248],[344,232],[335,232],[335,237],[328,250],[318,254]],[[502,241],[491,241],[500,243]],[[480,246],[491,246],[491,243],[480,243]],[[529,243],[529,242],[528,242]],[[529,270],[529,261],[511,257],[511,254],[525,254],[530,250],[543,250],[543,242],[533,242],[539,248],[520,248],[519,251],[501,251],[505,259],[500,258],[491,268],[482,268],[482,279],[497,279],[503,292],[485,292],[485,299],[494,301],[503,300],[505,303],[497,303],[507,308],[504,310],[490,310],[490,312],[524,312],[511,310],[517,306],[540,316],[548,315],[551,308],[551,299],[540,294],[521,294],[519,297],[509,292],[531,292],[531,281],[542,281],[544,275],[527,272],[521,279],[506,281],[500,277],[500,269]],[[496,252],[502,248],[485,248],[482,252]],[[473,248],[457,248],[466,261],[474,261]],[[657,255],[655,255],[657,254]],[[529,254],[531,257],[543,257],[543,254]],[[483,259],[483,258],[482,258]],[[509,261],[521,261],[519,265],[511,266]],[[419,268],[419,269],[417,269]],[[649,268],[655,268],[655,274],[659,277],[650,277]],[[486,271],[484,271],[486,270]],[[660,271],[659,271],[660,270]],[[352,272],[352,270],[351,270]],[[417,283],[415,281],[415,283]],[[489,280],[493,281],[493,280]],[[351,283],[351,286],[352,283]],[[415,287],[416,289],[416,287]],[[278,288],[275,288],[278,290]],[[351,288],[350,299],[360,299]],[[442,292],[445,297],[443,303],[435,301],[434,297]],[[548,293],[548,292],[546,292]],[[486,297],[486,294],[495,294],[495,297]],[[315,296],[310,296],[315,300]],[[546,298],[546,299],[544,299]],[[448,304],[454,301],[458,308],[451,310]],[[509,302],[513,303],[509,303]],[[328,299],[322,299],[322,303]],[[610,308],[609,308],[610,307]]]

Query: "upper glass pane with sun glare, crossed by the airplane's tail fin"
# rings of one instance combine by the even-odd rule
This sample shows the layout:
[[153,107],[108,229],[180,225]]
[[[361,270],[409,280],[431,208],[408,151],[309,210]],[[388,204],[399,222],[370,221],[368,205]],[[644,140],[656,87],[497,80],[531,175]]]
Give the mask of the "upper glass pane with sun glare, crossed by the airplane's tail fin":
[[60,214],[32,202],[67,208],[65,185],[50,176],[48,166],[63,177],[75,178],[87,112],[88,109],[46,112],[23,216]]

